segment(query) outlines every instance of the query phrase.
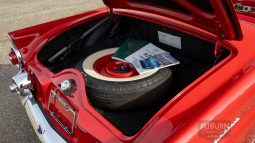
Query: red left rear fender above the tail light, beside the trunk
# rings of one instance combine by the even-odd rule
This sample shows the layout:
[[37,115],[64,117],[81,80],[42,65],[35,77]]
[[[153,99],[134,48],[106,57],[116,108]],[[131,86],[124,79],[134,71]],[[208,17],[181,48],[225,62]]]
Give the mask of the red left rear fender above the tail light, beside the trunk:
[[[55,38],[58,34],[67,31],[68,29],[71,29],[81,23],[96,19],[106,14],[108,14],[108,9],[101,8],[60,20],[20,29],[14,32],[10,32],[8,35],[20,50],[22,58],[24,59],[24,62],[26,62],[30,61],[31,58],[34,58],[36,52],[40,50],[42,46],[48,43],[48,41]],[[36,49],[31,50],[34,47]]]

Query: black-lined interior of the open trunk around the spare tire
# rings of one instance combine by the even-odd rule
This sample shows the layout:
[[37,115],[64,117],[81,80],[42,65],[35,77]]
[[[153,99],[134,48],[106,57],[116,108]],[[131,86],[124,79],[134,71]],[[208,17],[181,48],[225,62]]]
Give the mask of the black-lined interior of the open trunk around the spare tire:
[[[118,19],[120,20],[119,26],[113,33],[113,27]],[[83,72],[82,62],[87,56],[99,50],[120,47],[127,38],[146,40],[170,52],[171,55],[180,61],[180,64],[169,67],[173,73],[172,84],[165,93],[165,96],[159,101],[155,102],[153,105],[133,110],[95,108],[102,116],[127,136],[138,133],[149,119],[182,89],[230,55],[230,51],[224,49],[220,58],[216,59],[214,56],[215,43],[210,43],[151,22],[122,16],[121,18],[110,19],[105,24],[95,29],[82,41],[81,46],[74,45],[65,56],[57,59],[55,62],[48,62],[48,59],[60,51],[61,48],[65,47],[68,42],[81,36],[87,29],[100,20],[101,19],[97,19],[88,22],[59,35],[39,52],[38,59],[44,66],[55,73],[67,68],[76,68]],[[180,37],[181,49],[160,43],[158,31]]]

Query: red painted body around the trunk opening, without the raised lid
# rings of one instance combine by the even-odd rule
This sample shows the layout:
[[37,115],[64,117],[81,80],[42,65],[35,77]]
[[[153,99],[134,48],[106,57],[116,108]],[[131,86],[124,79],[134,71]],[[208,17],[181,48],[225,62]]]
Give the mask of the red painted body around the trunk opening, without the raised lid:
[[[117,9],[113,13],[131,16],[174,28],[179,31],[215,42],[216,36],[162,15],[136,10]],[[88,102],[85,82],[76,69],[52,73],[37,60],[37,53],[50,40],[64,31],[89,20],[104,16],[107,9],[34,26],[10,33],[21,51],[25,70],[34,75],[36,99],[46,117],[70,142],[212,142],[199,134],[203,120],[240,120],[231,128],[230,136],[222,141],[251,141],[255,122],[255,26],[241,22],[243,40],[224,41],[231,55],[211,68],[171,99],[136,135],[128,137],[102,117]],[[66,79],[74,79],[76,88],[71,97],[59,94],[77,111],[75,132],[69,136],[47,112],[50,90]]]

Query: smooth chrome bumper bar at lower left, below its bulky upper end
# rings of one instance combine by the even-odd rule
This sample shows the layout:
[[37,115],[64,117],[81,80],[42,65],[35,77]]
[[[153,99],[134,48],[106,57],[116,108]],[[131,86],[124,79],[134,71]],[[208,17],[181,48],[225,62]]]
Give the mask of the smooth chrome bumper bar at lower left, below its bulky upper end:
[[24,105],[29,120],[41,142],[66,143],[66,141],[51,128],[31,92],[26,96],[19,96]]

